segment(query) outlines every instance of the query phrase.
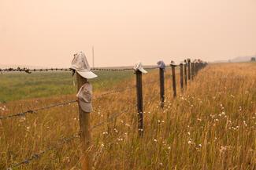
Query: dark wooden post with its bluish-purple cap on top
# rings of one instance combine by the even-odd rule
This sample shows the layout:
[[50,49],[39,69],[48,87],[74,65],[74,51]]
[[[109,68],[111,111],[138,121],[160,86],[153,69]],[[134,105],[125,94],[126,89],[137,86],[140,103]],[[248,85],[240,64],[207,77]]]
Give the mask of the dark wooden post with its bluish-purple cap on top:
[[160,79],[160,101],[161,107],[165,106],[165,63],[158,61],[159,79]]

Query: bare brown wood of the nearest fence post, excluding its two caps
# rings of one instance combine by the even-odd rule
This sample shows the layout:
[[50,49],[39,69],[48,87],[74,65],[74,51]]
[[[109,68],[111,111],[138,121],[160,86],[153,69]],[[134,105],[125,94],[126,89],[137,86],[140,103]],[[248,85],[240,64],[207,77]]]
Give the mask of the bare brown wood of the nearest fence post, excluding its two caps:
[[[76,73],[77,81],[77,92],[80,90],[82,85],[87,82],[86,78],[80,76]],[[80,117],[80,141],[82,146],[82,170],[91,170],[92,169],[92,155],[91,155],[91,125],[90,125],[90,113],[84,112],[80,104],[79,106],[79,117]]]

